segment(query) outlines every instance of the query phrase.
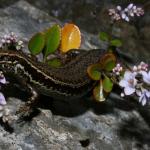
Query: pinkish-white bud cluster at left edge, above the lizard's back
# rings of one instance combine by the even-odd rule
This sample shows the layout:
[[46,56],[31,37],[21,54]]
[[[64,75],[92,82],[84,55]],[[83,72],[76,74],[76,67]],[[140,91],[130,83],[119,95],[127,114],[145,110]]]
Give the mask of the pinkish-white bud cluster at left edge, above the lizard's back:
[[23,41],[18,40],[17,36],[13,32],[11,32],[9,35],[4,35],[1,39],[1,49],[21,50],[23,47]]

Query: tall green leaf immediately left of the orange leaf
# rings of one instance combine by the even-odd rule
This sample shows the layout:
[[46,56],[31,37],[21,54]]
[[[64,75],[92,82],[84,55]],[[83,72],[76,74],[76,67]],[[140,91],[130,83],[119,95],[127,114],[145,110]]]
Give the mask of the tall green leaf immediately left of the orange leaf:
[[44,51],[44,57],[47,57],[49,54],[54,53],[59,44],[61,38],[61,31],[59,25],[54,25],[45,32],[46,36],[46,48]]

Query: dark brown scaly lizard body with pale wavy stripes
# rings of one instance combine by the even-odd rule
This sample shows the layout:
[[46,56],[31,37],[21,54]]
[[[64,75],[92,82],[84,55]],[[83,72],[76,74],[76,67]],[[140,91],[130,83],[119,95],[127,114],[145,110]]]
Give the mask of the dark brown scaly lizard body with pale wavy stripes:
[[99,61],[104,50],[82,52],[60,68],[37,62],[20,51],[0,50],[0,69],[27,82],[37,93],[57,99],[75,99],[89,92],[94,82],[87,67]]

